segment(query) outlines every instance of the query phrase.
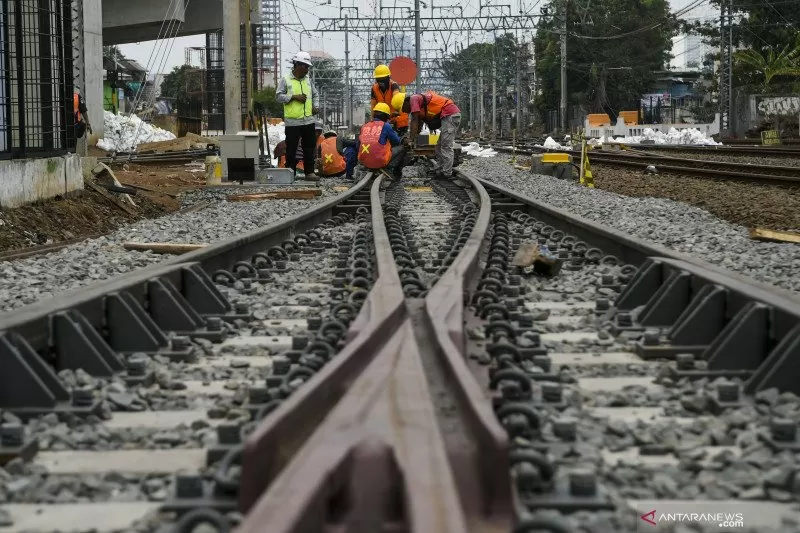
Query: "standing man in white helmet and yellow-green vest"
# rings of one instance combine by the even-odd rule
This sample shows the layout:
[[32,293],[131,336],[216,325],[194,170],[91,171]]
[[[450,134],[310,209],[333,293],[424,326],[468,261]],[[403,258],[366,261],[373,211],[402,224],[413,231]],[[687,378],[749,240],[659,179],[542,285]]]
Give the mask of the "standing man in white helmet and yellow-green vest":
[[283,104],[283,122],[286,128],[286,167],[297,171],[297,147],[302,143],[305,179],[318,181],[314,174],[316,136],[314,115],[314,87],[308,78],[311,56],[308,52],[297,52],[292,58],[292,70],[278,80],[275,99]]

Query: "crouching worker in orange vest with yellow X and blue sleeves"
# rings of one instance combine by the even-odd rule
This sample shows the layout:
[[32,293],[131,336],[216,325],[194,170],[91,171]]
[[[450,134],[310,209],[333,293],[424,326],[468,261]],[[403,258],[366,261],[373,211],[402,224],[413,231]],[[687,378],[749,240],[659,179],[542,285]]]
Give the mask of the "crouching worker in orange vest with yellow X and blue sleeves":
[[372,121],[361,126],[358,161],[372,170],[390,168],[394,171],[394,177],[400,178],[405,148],[402,139],[388,122],[391,110],[381,102],[375,105],[372,115]]

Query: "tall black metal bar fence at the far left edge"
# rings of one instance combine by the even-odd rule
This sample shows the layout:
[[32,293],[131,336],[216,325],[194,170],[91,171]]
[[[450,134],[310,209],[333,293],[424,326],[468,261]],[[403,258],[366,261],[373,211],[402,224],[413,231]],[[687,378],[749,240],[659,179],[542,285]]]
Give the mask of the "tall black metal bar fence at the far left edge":
[[75,148],[69,0],[0,0],[0,159]]

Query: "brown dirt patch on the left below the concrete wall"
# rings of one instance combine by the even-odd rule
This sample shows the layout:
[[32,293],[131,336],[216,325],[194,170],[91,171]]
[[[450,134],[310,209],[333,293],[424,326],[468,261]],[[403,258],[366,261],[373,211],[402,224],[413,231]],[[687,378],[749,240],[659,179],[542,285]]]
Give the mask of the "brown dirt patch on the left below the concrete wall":
[[[56,197],[14,209],[0,209],[0,252],[58,243],[110,233],[145,218],[157,218],[180,209],[181,192],[196,189],[205,175],[192,172],[202,163],[112,164],[117,179],[136,185],[131,212],[121,205],[120,196],[103,195],[87,186],[77,196]],[[102,189],[102,187],[101,187]]]

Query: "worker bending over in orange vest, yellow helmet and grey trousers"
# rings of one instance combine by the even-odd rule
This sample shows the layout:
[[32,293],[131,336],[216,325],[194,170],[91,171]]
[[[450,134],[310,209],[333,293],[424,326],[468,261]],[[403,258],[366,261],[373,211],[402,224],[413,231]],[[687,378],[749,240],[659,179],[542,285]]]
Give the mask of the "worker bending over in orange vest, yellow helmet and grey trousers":
[[392,107],[397,111],[411,114],[409,136],[406,139],[410,146],[416,146],[417,136],[422,130],[423,123],[431,132],[440,131],[439,141],[434,150],[438,166],[436,177],[452,177],[453,159],[455,158],[453,145],[461,124],[461,110],[455,102],[433,91],[411,96],[407,96],[406,93],[397,93],[392,97]]

